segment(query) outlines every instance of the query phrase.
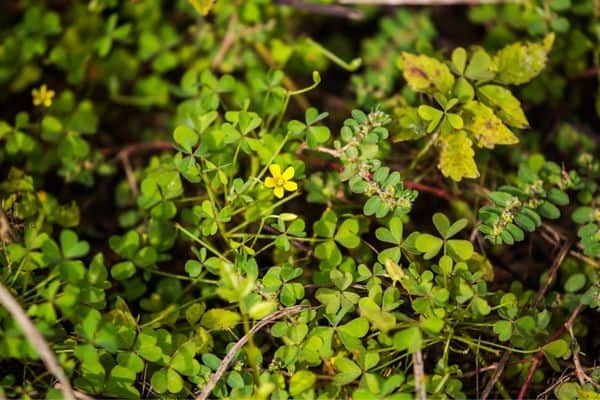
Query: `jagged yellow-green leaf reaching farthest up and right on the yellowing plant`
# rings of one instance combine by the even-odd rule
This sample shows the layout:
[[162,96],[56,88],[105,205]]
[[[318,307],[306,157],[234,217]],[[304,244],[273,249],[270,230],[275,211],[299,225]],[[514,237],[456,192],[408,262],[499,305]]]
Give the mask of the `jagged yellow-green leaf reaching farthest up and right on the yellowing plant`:
[[540,43],[517,42],[496,53],[496,80],[504,84],[521,85],[535,78],[546,66],[554,34],[546,35]]

